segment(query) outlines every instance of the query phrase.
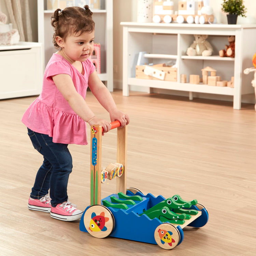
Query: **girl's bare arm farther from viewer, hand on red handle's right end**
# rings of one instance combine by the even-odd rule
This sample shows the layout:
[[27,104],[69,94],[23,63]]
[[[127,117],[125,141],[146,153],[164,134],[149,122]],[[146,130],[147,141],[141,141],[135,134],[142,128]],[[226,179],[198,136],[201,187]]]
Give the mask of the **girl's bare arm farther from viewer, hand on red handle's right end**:
[[120,127],[129,124],[129,116],[117,109],[110,91],[101,82],[96,71],[89,75],[88,86],[103,108],[109,112],[111,122],[118,120],[121,123]]

